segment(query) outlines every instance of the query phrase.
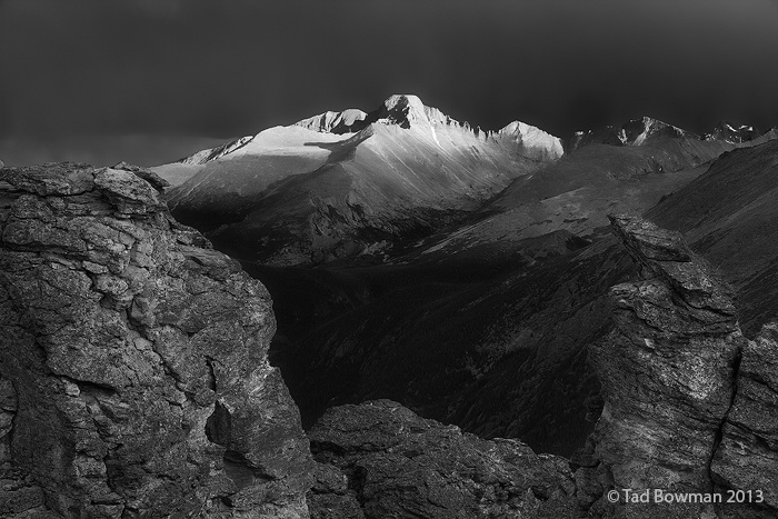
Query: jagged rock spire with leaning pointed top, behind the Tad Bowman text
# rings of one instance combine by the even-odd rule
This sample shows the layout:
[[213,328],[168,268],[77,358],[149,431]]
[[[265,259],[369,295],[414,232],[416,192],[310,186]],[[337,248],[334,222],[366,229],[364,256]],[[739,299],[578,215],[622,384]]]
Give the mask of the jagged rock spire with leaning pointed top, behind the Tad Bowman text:
[[[778,402],[775,336],[742,336],[731,289],[680,233],[610,220],[642,279],[612,288],[615,327],[590,348],[605,407],[576,459],[579,501],[595,517],[775,517],[777,429],[759,412]],[[619,503],[606,500],[610,489]],[[725,499],[728,489],[759,489],[765,503],[740,516],[712,503],[625,503],[621,489]]]

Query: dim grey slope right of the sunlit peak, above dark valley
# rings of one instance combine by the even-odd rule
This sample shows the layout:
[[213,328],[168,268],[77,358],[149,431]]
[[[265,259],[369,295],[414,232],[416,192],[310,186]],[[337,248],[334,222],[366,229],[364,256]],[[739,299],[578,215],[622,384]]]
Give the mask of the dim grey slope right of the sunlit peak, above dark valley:
[[608,212],[647,210],[732,148],[696,137],[660,138],[642,146],[589,144],[515,179],[483,207],[480,220],[433,236],[423,247],[442,256],[491,256],[551,232],[588,239],[608,223]]

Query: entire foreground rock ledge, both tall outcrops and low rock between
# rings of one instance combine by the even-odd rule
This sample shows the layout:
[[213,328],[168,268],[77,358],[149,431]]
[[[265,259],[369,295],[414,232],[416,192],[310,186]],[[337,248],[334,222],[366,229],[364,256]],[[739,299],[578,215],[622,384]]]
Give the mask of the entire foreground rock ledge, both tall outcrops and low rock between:
[[267,362],[267,291],[162,186],[129,164],[0,169],[0,517],[778,517],[778,326],[746,339],[679,234],[611,218],[642,279],[590,345],[605,407],[573,460],[388,400],[330,409],[309,448]]

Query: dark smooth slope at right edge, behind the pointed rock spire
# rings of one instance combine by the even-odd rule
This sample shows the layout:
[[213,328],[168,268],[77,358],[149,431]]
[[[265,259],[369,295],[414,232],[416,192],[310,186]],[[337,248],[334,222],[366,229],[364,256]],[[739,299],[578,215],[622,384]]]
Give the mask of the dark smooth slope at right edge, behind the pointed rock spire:
[[647,213],[684,232],[738,289],[744,330],[778,308],[778,141],[741,148]]

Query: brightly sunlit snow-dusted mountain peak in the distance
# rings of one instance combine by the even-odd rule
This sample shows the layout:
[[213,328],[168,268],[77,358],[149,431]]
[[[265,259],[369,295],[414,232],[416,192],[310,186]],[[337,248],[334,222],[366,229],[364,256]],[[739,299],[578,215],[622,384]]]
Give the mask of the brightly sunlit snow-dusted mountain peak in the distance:
[[527,124],[472,129],[392,96],[154,168],[176,218],[230,253],[269,265],[381,252],[462,218],[561,153]]

